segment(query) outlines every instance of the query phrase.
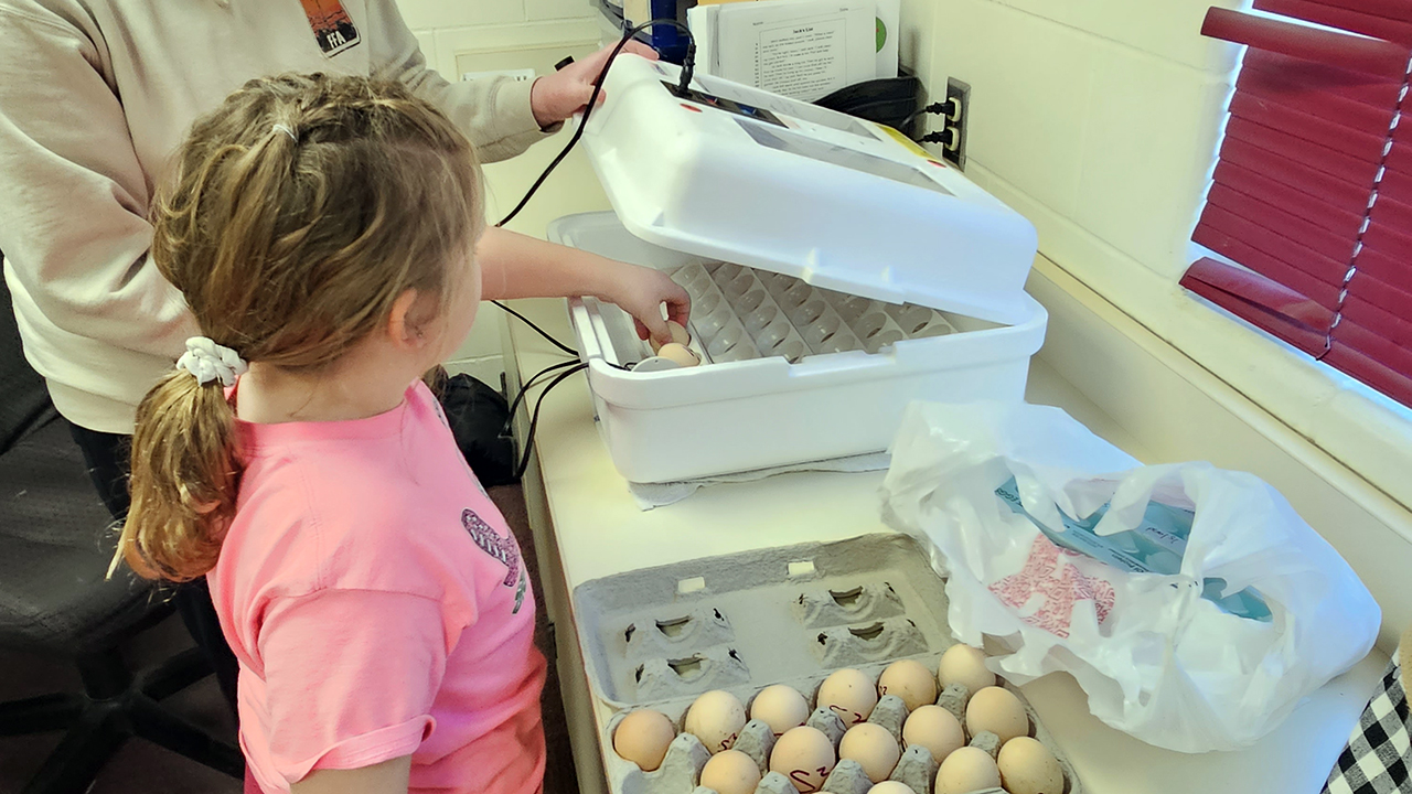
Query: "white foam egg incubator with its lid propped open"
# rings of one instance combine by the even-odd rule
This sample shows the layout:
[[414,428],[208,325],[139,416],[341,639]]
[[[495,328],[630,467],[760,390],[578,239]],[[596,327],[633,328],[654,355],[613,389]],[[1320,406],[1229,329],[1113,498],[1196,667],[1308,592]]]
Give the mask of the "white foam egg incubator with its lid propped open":
[[583,144],[613,212],[555,242],[661,268],[698,366],[570,304],[599,428],[633,482],[887,448],[912,400],[1022,400],[1046,314],[1034,226],[884,127],[620,57]]

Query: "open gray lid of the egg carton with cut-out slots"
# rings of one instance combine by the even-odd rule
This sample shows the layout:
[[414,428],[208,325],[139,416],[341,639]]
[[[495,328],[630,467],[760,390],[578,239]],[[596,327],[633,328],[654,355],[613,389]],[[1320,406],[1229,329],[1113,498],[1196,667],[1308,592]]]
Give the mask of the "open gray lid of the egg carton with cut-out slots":
[[[860,593],[884,598],[851,603]],[[805,596],[826,608],[829,598],[849,606],[840,605],[832,617],[803,622],[796,609]],[[709,689],[823,680],[843,667],[933,657],[955,644],[945,582],[916,540],[898,533],[630,571],[585,582],[573,599],[590,685],[616,709]],[[873,609],[880,603],[881,612]],[[717,617],[729,627],[722,630]],[[866,639],[898,627],[905,637],[891,646]],[[681,687],[642,691],[648,664],[628,647],[637,632],[655,641],[648,661],[688,670]],[[850,640],[846,632],[860,639]],[[863,651],[827,656],[825,643],[837,637]],[[712,675],[727,665],[724,675]]]

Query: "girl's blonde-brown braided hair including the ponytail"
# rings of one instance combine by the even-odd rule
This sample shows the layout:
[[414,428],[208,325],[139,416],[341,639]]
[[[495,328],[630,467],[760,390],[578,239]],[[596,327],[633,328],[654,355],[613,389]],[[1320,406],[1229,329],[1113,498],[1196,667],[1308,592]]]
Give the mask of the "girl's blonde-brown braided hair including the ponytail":
[[[312,373],[407,290],[445,302],[483,205],[470,143],[405,86],[281,75],[196,122],[152,203],[151,259],[205,336]],[[210,571],[243,468],[220,381],[167,374],[137,408],[131,465],[119,555],[148,578]]]

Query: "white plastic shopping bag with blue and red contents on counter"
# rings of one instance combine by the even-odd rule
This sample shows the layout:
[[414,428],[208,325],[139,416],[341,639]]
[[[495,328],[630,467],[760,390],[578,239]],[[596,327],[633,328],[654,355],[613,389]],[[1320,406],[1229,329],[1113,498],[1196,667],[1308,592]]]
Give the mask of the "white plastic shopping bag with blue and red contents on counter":
[[[1275,489],[1210,463],[1142,466],[1058,408],[915,403],[882,490],[888,523],[931,541],[962,641],[998,640],[1012,653],[991,667],[1017,684],[1070,672],[1099,719],[1159,747],[1251,745],[1378,633],[1367,588]],[[1182,516],[1171,557],[1158,547],[1180,550],[1180,533],[1163,521]],[[1161,562],[1169,575],[1134,572]]]

